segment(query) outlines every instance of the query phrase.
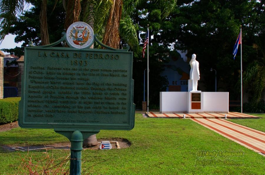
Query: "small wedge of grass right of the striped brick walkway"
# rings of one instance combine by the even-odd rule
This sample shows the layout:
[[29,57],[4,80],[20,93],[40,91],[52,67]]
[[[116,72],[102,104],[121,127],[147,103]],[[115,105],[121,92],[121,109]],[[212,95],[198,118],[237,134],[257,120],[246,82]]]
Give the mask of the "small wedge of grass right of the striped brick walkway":
[[260,119],[231,119],[229,121],[265,132],[265,114],[249,114]]

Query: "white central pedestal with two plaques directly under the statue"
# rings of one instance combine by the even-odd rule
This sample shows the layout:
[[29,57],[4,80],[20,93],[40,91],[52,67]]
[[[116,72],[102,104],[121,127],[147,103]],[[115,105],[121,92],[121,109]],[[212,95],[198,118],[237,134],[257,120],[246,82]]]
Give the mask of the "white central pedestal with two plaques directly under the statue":
[[203,92],[187,93],[187,113],[203,113]]

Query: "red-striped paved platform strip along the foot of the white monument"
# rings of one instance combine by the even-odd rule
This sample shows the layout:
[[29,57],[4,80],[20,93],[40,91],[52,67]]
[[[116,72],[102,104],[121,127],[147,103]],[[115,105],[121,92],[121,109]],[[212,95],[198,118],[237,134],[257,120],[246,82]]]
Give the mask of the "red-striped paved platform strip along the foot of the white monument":
[[202,113],[202,114],[187,114],[187,113],[159,113],[159,112],[149,112],[145,113],[148,117],[157,117],[157,118],[212,118],[212,119],[221,119],[225,118],[225,115],[228,119],[259,119],[259,117],[239,113],[239,112],[229,112],[229,113]]

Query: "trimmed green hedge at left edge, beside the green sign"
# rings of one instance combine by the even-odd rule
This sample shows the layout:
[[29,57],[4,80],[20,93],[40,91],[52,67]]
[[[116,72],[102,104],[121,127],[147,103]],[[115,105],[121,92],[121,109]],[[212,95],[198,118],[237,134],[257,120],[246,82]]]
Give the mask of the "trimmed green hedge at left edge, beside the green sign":
[[0,124],[18,120],[18,103],[20,97],[0,99]]

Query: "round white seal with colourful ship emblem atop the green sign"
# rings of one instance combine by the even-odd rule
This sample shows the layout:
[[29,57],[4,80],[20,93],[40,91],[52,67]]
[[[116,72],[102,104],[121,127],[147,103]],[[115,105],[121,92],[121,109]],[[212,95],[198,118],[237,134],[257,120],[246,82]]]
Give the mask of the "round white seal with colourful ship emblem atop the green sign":
[[94,32],[85,22],[72,23],[68,27],[66,35],[68,43],[78,49],[86,48],[94,41]]

